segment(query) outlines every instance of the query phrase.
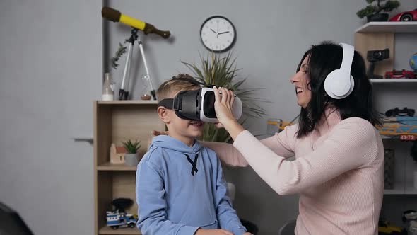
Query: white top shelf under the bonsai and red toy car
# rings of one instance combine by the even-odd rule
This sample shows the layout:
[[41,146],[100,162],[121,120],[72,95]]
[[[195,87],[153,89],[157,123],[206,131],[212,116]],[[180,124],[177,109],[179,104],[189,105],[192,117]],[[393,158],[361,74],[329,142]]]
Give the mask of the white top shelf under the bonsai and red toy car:
[[417,33],[417,22],[369,22],[356,33]]

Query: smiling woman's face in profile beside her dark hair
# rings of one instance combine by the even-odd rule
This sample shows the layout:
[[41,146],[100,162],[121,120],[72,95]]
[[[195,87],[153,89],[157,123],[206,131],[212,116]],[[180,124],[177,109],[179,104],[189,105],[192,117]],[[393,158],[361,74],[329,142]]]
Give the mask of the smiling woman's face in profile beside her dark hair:
[[310,90],[310,74],[308,68],[308,59],[310,55],[307,55],[301,63],[300,71],[298,71],[291,79],[291,83],[295,85],[295,94],[297,95],[297,104],[301,107],[307,107],[311,100]]

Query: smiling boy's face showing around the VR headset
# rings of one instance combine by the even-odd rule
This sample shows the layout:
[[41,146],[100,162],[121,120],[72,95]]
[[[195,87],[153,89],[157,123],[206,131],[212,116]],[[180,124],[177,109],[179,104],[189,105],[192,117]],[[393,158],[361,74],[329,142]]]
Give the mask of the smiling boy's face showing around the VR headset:
[[[177,93],[172,93],[174,98]],[[158,108],[158,115],[168,127],[169,135],[176,139],[180,139],[186,144],[194,144],[194,139],[203,134],[203,122],[186,120],[178,117],[174,110],[164,107]]]

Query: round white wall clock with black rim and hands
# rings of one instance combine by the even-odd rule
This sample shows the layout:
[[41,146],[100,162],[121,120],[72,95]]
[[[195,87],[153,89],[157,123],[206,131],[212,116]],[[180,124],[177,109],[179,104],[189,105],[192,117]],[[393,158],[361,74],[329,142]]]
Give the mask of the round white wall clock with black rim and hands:
[[227,18],[211,16],[201,25],[200,37],[207,49],[213,52],[224,52],[233,46],[236,30]]

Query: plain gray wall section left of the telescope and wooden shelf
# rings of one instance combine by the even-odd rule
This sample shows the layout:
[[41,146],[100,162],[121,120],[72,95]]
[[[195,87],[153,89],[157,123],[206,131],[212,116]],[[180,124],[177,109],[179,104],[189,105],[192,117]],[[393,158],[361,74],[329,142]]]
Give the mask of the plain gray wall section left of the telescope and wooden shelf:
[[35,234],[93,234],[101,1],[0,1],[0,201]]

